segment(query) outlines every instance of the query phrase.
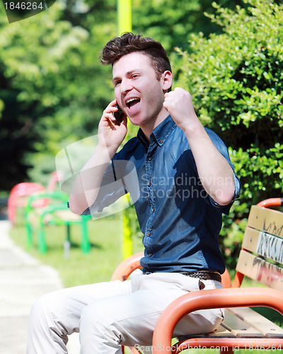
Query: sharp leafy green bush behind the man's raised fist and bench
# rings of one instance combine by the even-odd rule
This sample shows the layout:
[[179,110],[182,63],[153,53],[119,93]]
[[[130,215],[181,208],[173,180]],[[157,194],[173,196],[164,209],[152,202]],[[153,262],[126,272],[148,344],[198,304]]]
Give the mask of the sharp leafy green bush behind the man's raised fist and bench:
[[250,205],[283,192],[283,6],[244,2],[246,8],[235,10],[214,3],[216,16],[207,16],[223,33],[192,35],[190,53],[178,50],[177,62],[177,85],[190,91],[204,125],[230,147],[241,177],[241,202],[221,232],[229,268],[236,263]]

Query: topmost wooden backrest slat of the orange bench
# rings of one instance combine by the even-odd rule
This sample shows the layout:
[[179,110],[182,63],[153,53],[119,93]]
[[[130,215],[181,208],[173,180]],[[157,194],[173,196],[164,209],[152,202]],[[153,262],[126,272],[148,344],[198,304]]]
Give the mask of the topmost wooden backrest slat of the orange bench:
[[283,237],[283,213],[253,205],[248,217],[248,226]]

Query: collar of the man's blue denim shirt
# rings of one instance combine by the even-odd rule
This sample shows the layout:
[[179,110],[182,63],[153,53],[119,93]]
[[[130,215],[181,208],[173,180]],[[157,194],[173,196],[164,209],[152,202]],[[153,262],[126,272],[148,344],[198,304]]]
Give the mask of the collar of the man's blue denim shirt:
[[[168,115],[160,124],[157,125],[156,128],[154,128],[150,136],[151,142],[156,141],[157,144],[161,147],[161,145],[164,144],[164,142],[166,141],[168,136],[171,135],[171,132],[173,132],[176,126],[177,125],[171,115]],[[144,132],[141,130],[141,128],[139,128],[139,131],[137,132],[137,137],[141,144],[146,147],[149,146]]]

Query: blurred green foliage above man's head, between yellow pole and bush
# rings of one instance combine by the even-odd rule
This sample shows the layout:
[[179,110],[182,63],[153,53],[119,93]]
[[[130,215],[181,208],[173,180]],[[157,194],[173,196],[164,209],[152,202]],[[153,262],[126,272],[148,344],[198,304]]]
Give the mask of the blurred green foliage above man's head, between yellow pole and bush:
[[[235,7],[241,0],[220,0],[222,6]],[[204,11],[213,11],[210,0],[134,0],[132,20],[135,33],[143,33],[156,40],[174,54],[174,47],[187,49],[187,35],[221,32],[221,26],[207,21]]]

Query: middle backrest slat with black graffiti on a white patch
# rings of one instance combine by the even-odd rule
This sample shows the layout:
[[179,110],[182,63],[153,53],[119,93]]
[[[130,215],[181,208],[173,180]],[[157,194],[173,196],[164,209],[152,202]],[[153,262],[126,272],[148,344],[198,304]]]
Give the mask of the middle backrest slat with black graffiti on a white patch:
[[247,227],[242,248],[283,264],[283,239],[280,237]]

